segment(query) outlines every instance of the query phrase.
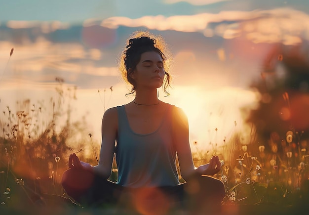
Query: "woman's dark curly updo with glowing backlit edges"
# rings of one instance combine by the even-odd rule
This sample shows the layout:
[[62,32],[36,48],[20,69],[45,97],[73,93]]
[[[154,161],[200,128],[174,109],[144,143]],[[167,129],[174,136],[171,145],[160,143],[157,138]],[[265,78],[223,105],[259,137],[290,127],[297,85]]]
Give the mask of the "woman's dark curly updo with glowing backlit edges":
[[[169,92],[167,91],[167,87],[170,86],[171,81],[171,76],[167,72],[169,69],[169,63],[166,55],[163,54],[162,50],[168,52],[164,40],[160,36],[154,37],[147,32],[136,32],[134,33],[134,35],[132,35],[132,37],[128,39],[125,50],[121,55],[119,65],[119,70],[121,72],[123,80],[126,83],[132,85],[131,91],[126,95],[135,93],[135,82],[130,77],[130,74],[135,70],[136,65],[141,59],[141,55],[147,51],[154,51],[161,56],[165,71],[163,90],[167,96],[169,95]],[[129,69],[131,69],[130,72]]]

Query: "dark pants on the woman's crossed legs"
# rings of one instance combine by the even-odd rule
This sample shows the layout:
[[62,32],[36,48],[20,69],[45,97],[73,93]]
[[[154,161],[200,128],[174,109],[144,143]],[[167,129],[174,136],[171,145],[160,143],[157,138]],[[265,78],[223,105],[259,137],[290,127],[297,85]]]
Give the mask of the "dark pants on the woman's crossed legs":
[[62,186],[69,196],[83,206],[181,206],[210,210],[220,206],[225,197],[224,184],[211,176],[194,176],[177,186],[128,188],[91,172],[69,169],[63,174]]

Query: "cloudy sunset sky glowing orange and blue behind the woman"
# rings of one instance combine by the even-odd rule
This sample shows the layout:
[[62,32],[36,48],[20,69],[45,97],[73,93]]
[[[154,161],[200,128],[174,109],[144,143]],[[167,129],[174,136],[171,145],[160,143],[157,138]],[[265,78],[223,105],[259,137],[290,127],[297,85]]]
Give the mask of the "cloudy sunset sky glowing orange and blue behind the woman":
[[26,98],[48,103],[61,77],[77,87],[71,119],[86,116],[84,135],[99,144],[104,109],[133,99],[117,59],[137,30],[162,35],[173,53],[171,95],[159,95],[187,113],[191,143],[240,132],[248,144],[240,108],[259,99],[250,84],[275,45],[308,44],[309,1],[0,0],[0,111]]

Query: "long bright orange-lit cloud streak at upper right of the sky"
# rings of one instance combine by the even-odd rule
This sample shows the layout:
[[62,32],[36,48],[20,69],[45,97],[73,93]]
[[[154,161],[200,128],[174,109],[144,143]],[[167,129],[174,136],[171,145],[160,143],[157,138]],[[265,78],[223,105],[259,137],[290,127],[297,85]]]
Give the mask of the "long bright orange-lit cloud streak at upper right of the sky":
[[143,16],[137,19],[110,17],[103,20],[101,26],[112,29],[127,26],[159,31],[200,32],[205,37],[215,35],[224,39],[244,37],[254,43],[291,45],[309,40],[309,14],[288,7],[169,17]]

